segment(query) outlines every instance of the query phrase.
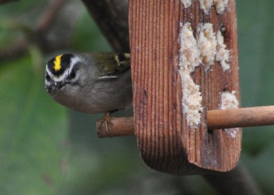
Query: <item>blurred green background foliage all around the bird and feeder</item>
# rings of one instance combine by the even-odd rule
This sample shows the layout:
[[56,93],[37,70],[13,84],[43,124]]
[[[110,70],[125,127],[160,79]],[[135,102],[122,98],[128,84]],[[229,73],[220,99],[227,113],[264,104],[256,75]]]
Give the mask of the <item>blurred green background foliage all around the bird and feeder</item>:
[[[37,43],[32,35],[53,2],[0,5],[0,194],[214,194],[201,176],[147,168],[134,137],[99,139],[95,122],[102,115],[77,113],[51,100],[43,84],[49,58],[111,50],[81,1],[66,1],[49,29],[39,32],[47,32],[49,46]],[[242,106],[271,105],[274,1],[236,3]],[[23,54],[1,56],[12,45],[25,47]],[[126,114],[132,111],[116,115]],[[243,133],[240,161],[264,194],[274,192],[273,137],[273,126]]]

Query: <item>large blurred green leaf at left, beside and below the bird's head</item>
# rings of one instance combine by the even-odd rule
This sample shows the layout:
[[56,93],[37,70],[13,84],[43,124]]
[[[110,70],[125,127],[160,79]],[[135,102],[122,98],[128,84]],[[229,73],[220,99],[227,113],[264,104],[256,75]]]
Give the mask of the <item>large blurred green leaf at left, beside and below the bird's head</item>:
[[1,64],[1,194],[51,194],[62,182],[68,119],[29,56]]

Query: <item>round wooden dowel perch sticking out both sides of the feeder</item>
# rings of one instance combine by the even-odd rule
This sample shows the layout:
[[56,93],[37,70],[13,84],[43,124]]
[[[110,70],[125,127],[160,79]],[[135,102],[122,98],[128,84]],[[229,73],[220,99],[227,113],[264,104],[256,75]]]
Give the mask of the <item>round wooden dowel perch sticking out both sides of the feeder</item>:
[[[111,123],[107,131],[104,124],[97,122],[97,135],[100,138],[134,135],[134,117],[113,117]],[[274,106],[208,111],[208,130],[273,124]]]

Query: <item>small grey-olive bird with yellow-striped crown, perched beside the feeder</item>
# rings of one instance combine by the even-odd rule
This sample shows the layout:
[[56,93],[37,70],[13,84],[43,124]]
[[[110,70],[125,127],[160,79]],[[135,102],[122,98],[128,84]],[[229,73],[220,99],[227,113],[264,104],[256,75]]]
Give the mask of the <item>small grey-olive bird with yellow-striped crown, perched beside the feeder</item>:
[[45,89],[58,103],[84,113],[111,113],[132,104],[129,54],[63,54],[45,71]]

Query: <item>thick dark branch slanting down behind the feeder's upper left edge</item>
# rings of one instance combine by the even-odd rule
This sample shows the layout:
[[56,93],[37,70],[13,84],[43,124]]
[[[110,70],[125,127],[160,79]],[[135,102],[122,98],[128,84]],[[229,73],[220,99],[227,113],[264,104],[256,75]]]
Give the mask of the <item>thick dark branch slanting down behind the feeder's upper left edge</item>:
[[82,1],[114,50],[129,52],[128,1]]

